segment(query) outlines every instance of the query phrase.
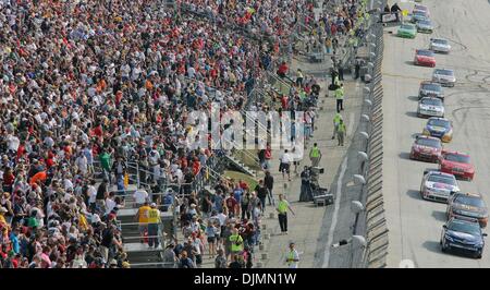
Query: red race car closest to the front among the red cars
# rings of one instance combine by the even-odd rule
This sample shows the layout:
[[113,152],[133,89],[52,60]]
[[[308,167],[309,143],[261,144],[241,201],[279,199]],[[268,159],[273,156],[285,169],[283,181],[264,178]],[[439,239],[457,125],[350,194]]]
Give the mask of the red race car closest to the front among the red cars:
[[475,177],[475,167],[470,164],[469,155],[458,152],[443,150],[439,161],[439,170],[469,181]]

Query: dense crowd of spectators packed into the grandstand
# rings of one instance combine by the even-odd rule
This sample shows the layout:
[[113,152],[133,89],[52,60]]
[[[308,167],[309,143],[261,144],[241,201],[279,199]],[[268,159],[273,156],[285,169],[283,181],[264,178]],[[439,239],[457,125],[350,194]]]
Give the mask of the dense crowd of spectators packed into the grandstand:
[[[183,1],[208,19],[164,2],[0,0],[0,267],[131,267],[112,190],[127,185],[127,162],[152,185],[193,182],[215,152],[187,141],[189,111],[245,109],[289,29],[313,21],[306,0]],[[221,202],[180,201],[185,243],[166,256],[181,267],[205,244],[217,267],[252,266],[266,205],[246,184],[216,190]],[[229,195],[248,196],[246,209]]]

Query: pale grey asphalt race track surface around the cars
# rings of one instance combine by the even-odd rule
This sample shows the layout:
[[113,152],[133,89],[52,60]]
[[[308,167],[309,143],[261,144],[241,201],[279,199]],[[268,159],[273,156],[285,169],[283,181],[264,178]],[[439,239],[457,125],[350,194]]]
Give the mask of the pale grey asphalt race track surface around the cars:
[[[393,1],[390,1],[390,5]],[[400,3],[412,11],[414,3]],[[424,169],[436,164],[408,159],[412,143],[427,119],[416,116],[419,83],[433,69],[413,65],[415,49],[428,48],[430,37],[450,40],[452,51],[437,55],[436,68],[454,69],[457,83],[444,88],[445,117],[453,121],[453,141],[444,148],[468,153],[476,168],[471,182],[458,181],[464,192],[479,192],[490,204],[490,2],[488,0],[424,0],[434,24],[432,35],[415,39],[385,28],[383,59],[384,198],[389,227],[388,267],[490,267],[490,240],[481,259],[442,253],[439,241],[445,204],[419,196]],[[393,32],[390,34],[389,32]],[[485,232],[490,233],[487,228]],[[412,261],[412,262],[411,262]]]

